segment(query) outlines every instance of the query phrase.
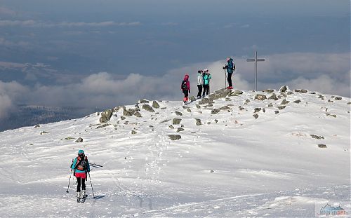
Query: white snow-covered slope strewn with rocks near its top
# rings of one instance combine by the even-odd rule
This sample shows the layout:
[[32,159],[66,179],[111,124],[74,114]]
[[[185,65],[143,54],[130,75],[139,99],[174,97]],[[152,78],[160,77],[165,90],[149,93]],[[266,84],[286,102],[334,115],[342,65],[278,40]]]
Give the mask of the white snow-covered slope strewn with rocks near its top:
[[[314,217],[329,202],[350,207],[350,98],[210,98],[118,107],[102,128],[92,114],[0,132],[0,217]],[[84,204],[73,177],[66,193],[79,149],[102,166],[91,167],[95,198],[88,179]]]

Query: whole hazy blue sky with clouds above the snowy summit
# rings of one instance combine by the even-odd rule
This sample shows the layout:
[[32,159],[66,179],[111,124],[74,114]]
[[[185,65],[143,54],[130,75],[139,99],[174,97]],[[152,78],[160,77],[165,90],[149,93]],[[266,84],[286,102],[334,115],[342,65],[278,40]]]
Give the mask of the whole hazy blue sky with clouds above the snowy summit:
[[0,117],[16,104],[114,107],[211,89],[305,88],[350,97],[349,0],[0,0]]

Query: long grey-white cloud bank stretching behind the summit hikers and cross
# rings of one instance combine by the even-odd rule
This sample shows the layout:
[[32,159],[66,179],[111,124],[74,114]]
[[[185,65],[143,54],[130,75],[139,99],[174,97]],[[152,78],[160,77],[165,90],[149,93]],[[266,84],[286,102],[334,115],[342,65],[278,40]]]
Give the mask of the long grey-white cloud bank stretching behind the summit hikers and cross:
[[[251,58],[251,57],[250,57]],[[263,57],[262,57],[263,58]],[[350,54],[289,53],[269,55],[258,64],[258,89],[305,88],[320,93],[350,97]],[[254,69],[246,57],[234,57],[237,66],[233,75],[234,88],[252,90]],[[4,63],[3,63],[4,64]],[[196,95],[197,70],[207,68],[213,79],[211,90],[225,86],[222,69],[225,60],[199,62],[179,69],[171,69],[161,76],[143,74],[121,75],[107,72],[91,74],[65,85],[34,87],[17,82],[0,81],[0,117],[6,116],[16,104],[112,108],[133,104],[140,98],[149,100],[181,100],[180,83],[190,74],[192,95]],[[7,65],[6,67],[11,68]],[[19,67],[18,65],[12,67]]]

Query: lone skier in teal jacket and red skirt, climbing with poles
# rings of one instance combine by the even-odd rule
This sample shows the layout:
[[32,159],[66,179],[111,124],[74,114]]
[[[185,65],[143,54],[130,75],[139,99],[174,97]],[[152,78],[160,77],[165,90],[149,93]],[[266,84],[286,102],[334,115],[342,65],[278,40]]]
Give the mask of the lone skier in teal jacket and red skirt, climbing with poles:
[[78,151],[78,156],[74,158],[71,169],[74,170],[73,175],[77,178],[77,198],[84,198],[86,196],[86,173],[90,172],[90,165],[83,150]]

